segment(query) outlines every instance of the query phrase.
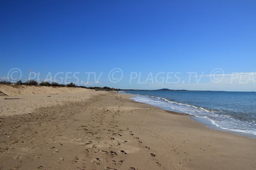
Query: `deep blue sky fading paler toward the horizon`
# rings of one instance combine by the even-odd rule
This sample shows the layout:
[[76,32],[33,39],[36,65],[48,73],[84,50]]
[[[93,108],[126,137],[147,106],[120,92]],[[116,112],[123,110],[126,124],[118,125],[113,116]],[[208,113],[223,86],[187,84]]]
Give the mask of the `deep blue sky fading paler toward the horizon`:
[[0,61],[1,80],[19,68],[23,81],[256,91],[256,1],[0,0]]

